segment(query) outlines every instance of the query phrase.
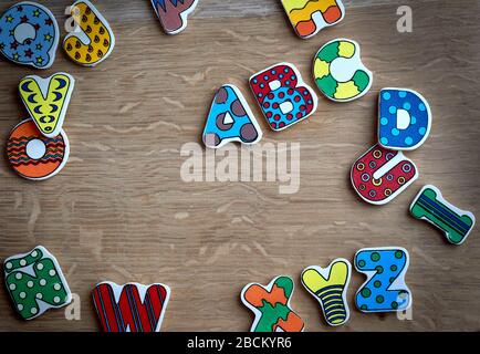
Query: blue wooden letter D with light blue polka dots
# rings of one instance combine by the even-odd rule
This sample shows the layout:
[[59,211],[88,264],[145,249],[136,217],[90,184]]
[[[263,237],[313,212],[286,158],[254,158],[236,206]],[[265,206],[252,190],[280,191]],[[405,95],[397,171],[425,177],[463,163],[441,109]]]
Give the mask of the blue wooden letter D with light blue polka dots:
[[[403,112],[400,112],[400,110]],[[409,118],[408,126],[398,118]],[[425,98],[411,90],[385,88],[379,95],[378,142],[396,150],[415,149],[427,138],[431,113]]]

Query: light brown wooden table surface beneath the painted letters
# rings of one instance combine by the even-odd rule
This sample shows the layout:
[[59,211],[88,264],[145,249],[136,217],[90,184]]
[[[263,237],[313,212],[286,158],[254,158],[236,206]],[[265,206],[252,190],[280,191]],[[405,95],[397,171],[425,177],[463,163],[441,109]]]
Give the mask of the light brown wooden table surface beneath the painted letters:
[[[63,29],[70,1],[40,2]],[[279,274],[295,279],[292,305],[307,331],[480,330],[478,229],[455,247],[408,215],[425,184],[480,215],[479,1],[345,1],[345,20],[307,41],[293,33],[276,0],[200,0],[188,29],[176,37],[163,34],[149,1],[94,2],[117,39],[101,65],[77,66],[60,49],[46,71],[0,62],[2,146],[27,117],[17,90],[22,77],[65,71],[76,79],[64,124],[71,142],[65,168],[33,183],[0,159],[0,259],[45,246],[81,299],[81,321],[65,320],[63,310],[21,321],[1,289],[0,330],[97,331],[91,291],[111,280],[169,284],[163,331],[248,331],[253,317],[239,301],[241,289]],[[0,1],[0,11],[11,4]],[[413,8],[413,33],[397,32],[400,4]],[[320,97],[310,119],[270,131],[249,93],[250,75],[288,61],[313,85],[313,55],[335,38],[361,43],[374,72],[371,92],[347,104]],[[200,142],[215,90],[225,83],[244,93],[263,142],[300,143],[296,194],[280,194],[273,181],[182,180],[180,149]],[[420,178],[389,205],[375,207],[359,200],[348,176],[375,143],[378,91],[386,86],[421,92],[434,126],[425,145],[407,154]],[[410,252],[413,320],[354,309],[365,279],[354,272],[351,321],[327,327],[300,285],[301,271],[383,246]]]

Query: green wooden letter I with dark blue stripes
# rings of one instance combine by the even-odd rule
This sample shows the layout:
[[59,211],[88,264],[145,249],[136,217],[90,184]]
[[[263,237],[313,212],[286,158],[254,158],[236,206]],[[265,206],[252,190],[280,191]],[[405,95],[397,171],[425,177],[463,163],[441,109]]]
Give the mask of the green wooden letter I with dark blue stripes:
[[456,212],[459,209],[446,201],[436,189],[432,186],[424,188],[413,202],[410,212],[442,230],[451,243],[460,244],[472,230],[474,218],[469,212]]

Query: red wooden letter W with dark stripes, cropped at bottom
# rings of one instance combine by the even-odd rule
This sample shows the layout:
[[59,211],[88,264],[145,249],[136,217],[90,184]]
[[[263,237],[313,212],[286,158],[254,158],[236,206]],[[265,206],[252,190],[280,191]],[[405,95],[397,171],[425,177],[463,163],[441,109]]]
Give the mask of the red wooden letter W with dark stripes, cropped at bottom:
[[[140,288],[144,288],[144,296]],[[164,284],[105,282],[93,291],[93,302],[105,332],[159,332],[168,300],[169,288]]]

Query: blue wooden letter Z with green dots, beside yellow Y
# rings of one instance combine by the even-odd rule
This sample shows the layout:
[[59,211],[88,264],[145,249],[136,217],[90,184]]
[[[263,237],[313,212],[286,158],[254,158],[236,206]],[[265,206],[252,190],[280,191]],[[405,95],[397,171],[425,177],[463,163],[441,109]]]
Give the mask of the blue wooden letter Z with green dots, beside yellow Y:
[[[363,249],[355,256],[355,268],[367,274],[368,280],[355,295],[355,303],[363,312],[390,312],[406,310],[411,293],[405,284],[408,252],[404,249]],[[374,275],[368,272],[375,271]],[[396,290],[389,290],[397,281]]]

